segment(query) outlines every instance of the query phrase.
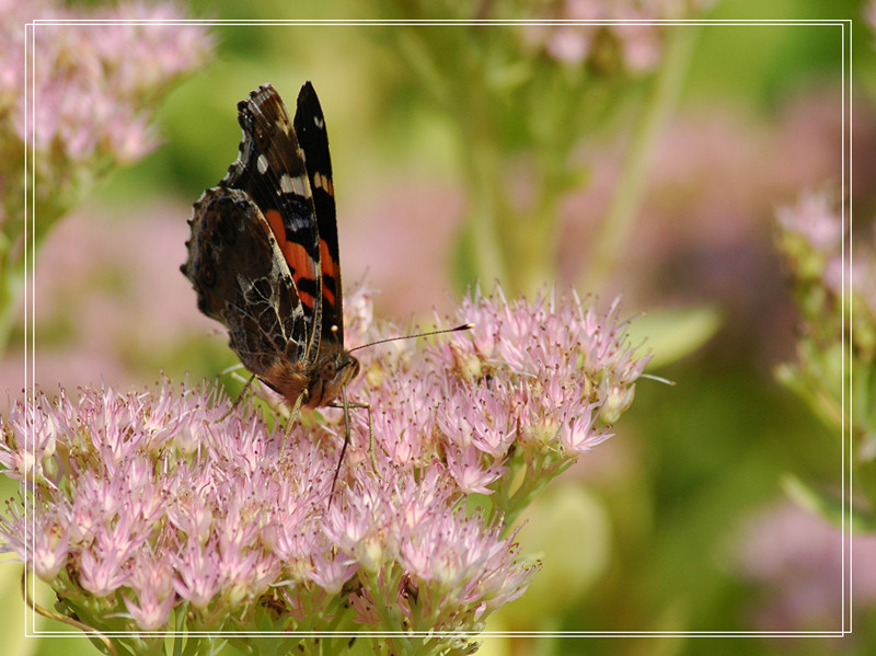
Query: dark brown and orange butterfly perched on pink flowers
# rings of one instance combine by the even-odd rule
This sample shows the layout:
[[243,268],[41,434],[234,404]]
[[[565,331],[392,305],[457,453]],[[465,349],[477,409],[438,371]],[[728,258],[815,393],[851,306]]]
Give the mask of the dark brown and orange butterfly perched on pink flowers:
[[[228,329],[243,366],[293,415],[338,398],[346,408],[359,362],[344,347],[332,161],[316,92],[301,88],[290,122],[264,84],[238,103],[238,158],[195,203],[180,268],[198,309]],[[348,440],[347,425],[345,450]]]

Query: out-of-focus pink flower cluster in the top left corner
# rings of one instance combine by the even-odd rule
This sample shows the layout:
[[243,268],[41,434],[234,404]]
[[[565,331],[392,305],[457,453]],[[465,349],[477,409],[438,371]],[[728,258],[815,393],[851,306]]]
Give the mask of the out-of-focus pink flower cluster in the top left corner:
[[[180,76],[203,66],[212,48],[203,26],[178,23],[183,16],[172,3],[83,11],[55,0],[0,0],[0,11],[3,196],[20,188],[25,145],[35,148],[39,199],[73,195],[110,165],[142,158],[157,145],[150,125],[157,100]],[[35,19],[59,22],[32,27],[31,123],[24,115],[24,24]],[[94,19],[101,22],[87,22]]]

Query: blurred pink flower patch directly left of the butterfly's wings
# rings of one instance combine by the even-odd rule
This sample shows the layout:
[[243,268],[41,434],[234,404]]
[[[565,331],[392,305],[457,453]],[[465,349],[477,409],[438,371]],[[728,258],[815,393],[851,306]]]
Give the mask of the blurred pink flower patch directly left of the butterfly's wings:
[[[157,202],[119,220],[89,203],[46,237],[33,276],[37,384],[146,384],[159,365],[174,377],[195,366],[176,357],[180,344],[206,339],[221,353],[224,339],[194,310],[178,271],[189,210]],[[24,380],[21,348],[13,341],[0,358],[12,389]]]

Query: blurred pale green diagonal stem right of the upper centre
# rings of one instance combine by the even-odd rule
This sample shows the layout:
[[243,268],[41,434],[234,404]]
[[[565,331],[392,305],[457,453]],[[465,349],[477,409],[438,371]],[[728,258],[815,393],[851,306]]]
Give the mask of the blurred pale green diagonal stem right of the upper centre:
[[654,146],[676,105],[688,71],[700,28],[696,25],[671,27],[666,55],[657,73],[645,111],[633,128],[632,143],[624,160],[596,249],[578,279],[578,287],[598,292],[615,269],[623,245],[633,229],[645,191],[645,177]]

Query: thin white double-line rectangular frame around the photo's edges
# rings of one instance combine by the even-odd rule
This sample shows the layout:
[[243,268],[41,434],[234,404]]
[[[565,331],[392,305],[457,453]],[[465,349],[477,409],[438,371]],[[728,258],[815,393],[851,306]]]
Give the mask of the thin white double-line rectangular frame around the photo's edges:
[[[471,21],[471,20],[423,20],[423,21],[411,21],[411,20],[356,20],[356,21],[344,21],[344,20],[111,20],[111,19],[89,19],[89,20],[42,20],[37,19],[24,25],[24,34],[25,34],[25,53],[24,53],[24,115],[25,115],[25,124],[26,127],[30,127],[30,135],[31,135],[31,143],[30,143],[30,152],[28,149],[25,148],[24,153],[24,170],[25,170],[25,181],[24,181],[24,240],[27,243],[27,234],[28,229],[35,233],[35,226],[36,226],[36,216],[35,216],[35,180],[36,180],[36,166],[35,166],[35,156],[31,156],[30,153],[36,152],[35,151],[35,125],[36,125],[36,112],[35,112],[35,80],[36,80],[36,68],[35,68],[35,32],[36,27],[39,25],[69,25],[69,26],[77,26],[77,25],[106,25],[106,24],[119,24],[119,25],[200,25],[200,26],[210,26],[210,25],[222,25],[222,26],[233,26],[233,25],[243,25],[243,26],[255,26],[255,25],[289,25],[289,26],[320,26],[320,25],[330,25],[330,26],[366,26],[366,25],[575,25],[575,24],[589,24],[589,25],[618,25],[618,24],[637,24],[637,25],[677,25],[677,26],[688,26],[688,25],[703,25],[703,26],[712,26],[712,25],[723,25],[723,26],[770,26],[770,25],[782,25],[782,26],[794,26],[794,25],[822,25],[822,26],[839,26],[841,28],[841,68],[842,68],[842,81],[841,81],[841,89],[842,89],[842,171],[841,171],[841,193],[842,193],[842,205],[841,205],[841,217],[843,223],[848,221],[849,230],[843,239],[842,243],[842,258],[843,258],[843,272],[842,272],[842,290],[843,290],[843,298],[842,298],[842,309],[843,309],[843,336],[842,336],[842,364],[841,364],[841,371],[842,371],[842,379],[843,379],[843,389],[841,392],[841,402],[843,408],[843,425],[842,425],[842,436],[841,436],[841,468],[842,468],[842,507],[843,507],[843,519],[842,519],[842,534],[843,534],[843,549],[842,549],[842,626],[837,631],[563,631],[563,632],[555,632],[555,631],[483,631],[483,632],[457,632],[457,631],[449,631],[449,632],[405,632],[405,631],[391,631],[391,632],[371,632],[371,631],[362,631],[362,632],[349,632],[349,631],[339,631],[339,632],[254,632],[254,633],[242,633],[242,632],[233,632],[233,631],[218,631],[218,632],[175,632],[175,631],[138,631],[138,632],[112,632],[105,633],[110,637],[119,636],[119,635],[141,635],[141,636],[173,636],[175,634],[180,635],[191,635],[191,636],[214,636],[214,635],[233,635],[235,637],[321,637],[321,636],[333,636],[333,637],[354,637],[360,634],[367,634],[372,637],[389,637],[393,635],[417,635],[417,636],[427,636],[427,635],[441,635],[441,636],[469,636],[473,638],[480,637],[491,637],[491,636],[525,636],[525,637],[537,637],[537,636],[557,636],[557,637],[623,637],[623,636],[638,636],[638,637],[679,637],[679,636],[689,636],[689,637],[750,637],[750,636],[772,636],[772,637],[842,637],[844,635],[852,633],[852,610],[853,610],[853,600],[852,600],[852,572],[853,572],[853,553],[852,553],[852,540],[851,540],[851,492],[852,492],[852,462],[853,462],[853,448],[851,442],[851,433],[850,426],[846,425],[846,416],[851,423],[852,419],[852,394],[850,390],[846,390],[846,366],[849,367],[849,377],[853,373],[851,370],[852,360],[851,360],[851,350],[850,350],[850,342],[851,342],[851,331],[852,331],[852,312],[854,311],[854,307],[850,303],[849,308],[849,324],[845,324],[845,298],[846,295],[851,299],[851,289],[852,289],[852,276],[853,276],[853,268],[852,268],[852,250],[850,248],[851,240],[852,240],[852,230],[853,230],[853,220],[852,220],[852,208],[851,208],[851,197],[852,197],[852,19],[829,19],[829,20],[613,20],[613,21],[573,21],[573,20],[543,20],[543,21],[532,21],[532,20],[482,20],[482,21]],[[25,129],[25,134],[28,134]],[[31,249],[33,249],[33,244],[31,244]],[[34,402],[35,402],[35,390],[34,383],[36,380],[36,354],[35,354],[35,344],[36,344],[36,326],[35,326],[35,306],[36,306],[36,289],[34,285],[35,280],[35,255],[34,252],[31,250],[28,252],[25,249],[24,253],[24,390],[25,390],[25,403],[28,403],[28,407],[31,412],[33,412]],[[849,275],[845,275],[846,268],[849,271]],[[849,332],[849,341],[846,341],[845,334],[846,331]],[[848,413],[848,414],[846,414]],[[30,423],[30,426],[33,426],[33,422]],[[25,430],[25,449],[27,448],[28,438],[33,439]],[[848,472],[846,472],[848,467]],[[32,493],[34,492],[35,483],[31,481],[28,483],[32,488]],[[31,496],[31,504],[33,505],[34,495]],[[27,510],[31,510],[31,517],[27,518]],[[25,544],[26,548],[30,548],[30,552],[33,553],[33,534],[35,531],[35,508],[28,508],[25,505],[24,508],[25,513],[25,526],[28,525],[27,519],[30,519],[30,531],[25,529]],[[849,522],[846,523],[846,516],[850,517]],[[848,567],[848,569],[846,569]],[[848,576],[846,576],[848,574]],[[846,587],[845,582],[846,578],[849,580],[849,586]],[[27,585],[31,588],[31,596],[32,598],[35,597],[35,577],[33,574],[27,575]],[[31,625],[28,626],[27,617],[31,617]],[[25,612],[25,626],[24,632],[27,637],[35,637],[35,636],[60,636],[60,637],[88,637],[87,634],[81,633],[79,631],[39,631],[36,629],[36,613],[27,609]]]

